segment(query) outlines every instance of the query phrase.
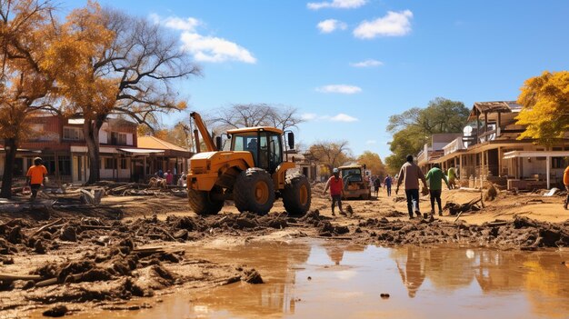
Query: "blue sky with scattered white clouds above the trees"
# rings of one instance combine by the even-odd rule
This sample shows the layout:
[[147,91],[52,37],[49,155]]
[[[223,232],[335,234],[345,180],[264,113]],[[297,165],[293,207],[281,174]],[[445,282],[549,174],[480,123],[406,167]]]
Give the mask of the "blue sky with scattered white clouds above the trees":
[[514,100],[526,78],[569,66],[567,1],[100,3],[180,36],[204,71],[178,85],[191,109],[294,106],[306,119],[297,141],[347,140],[354,155],[390,154],[389,115],[437,96],[469,108]]

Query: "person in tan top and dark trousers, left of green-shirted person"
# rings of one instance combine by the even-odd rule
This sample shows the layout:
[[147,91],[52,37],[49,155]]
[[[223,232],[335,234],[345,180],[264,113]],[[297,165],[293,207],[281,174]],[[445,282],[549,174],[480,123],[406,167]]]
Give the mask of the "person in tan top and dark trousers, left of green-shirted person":
[[421,216],[419,209],[419,179],[423,181],[425,191],[429,190],[426,184],[423,172],[417,164],[413,163],[413,155],[407,155],[407,163],[401,166],[399,171],[399,178],[397,179],[397,187],[395,194],[399,192],[399,185],[404,183],[405,196],[407,197],[407,211],[409,212],[409,219],[413,219],[413,211],[417,216]]

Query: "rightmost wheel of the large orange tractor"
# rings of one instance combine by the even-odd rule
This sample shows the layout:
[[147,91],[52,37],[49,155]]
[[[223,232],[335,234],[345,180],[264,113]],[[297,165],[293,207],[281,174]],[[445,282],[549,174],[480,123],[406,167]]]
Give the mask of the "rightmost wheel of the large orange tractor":
[[286,176],[282,194],[284,209],[288,214],[303,215],[310,209],[310,183],[303,174]]

